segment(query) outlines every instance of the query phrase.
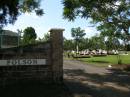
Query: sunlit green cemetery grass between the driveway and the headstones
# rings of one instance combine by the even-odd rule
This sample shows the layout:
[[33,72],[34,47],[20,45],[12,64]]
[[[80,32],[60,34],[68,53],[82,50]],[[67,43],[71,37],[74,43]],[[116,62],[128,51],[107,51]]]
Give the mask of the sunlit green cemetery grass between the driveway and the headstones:
[[[117,67],[125,67],[126,65],[130,65],[130,51],[127,52],[128,55],[106,55],[106,56],[91,56],[91,57],[81,57],[74,58],[74,60],[79,60],[85,62],[89,65],[99,66],[99,67],[107,67],[108,65],[117,66]],[[121,63],[118,64],[118,59],[120,57]],[[73,59],[73,58],[69,58]]]

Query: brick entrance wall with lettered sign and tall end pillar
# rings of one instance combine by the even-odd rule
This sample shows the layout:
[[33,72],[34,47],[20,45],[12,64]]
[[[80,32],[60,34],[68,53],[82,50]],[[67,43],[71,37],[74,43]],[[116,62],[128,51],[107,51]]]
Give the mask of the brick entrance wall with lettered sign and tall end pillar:
[[63,31],[54,28],[50,41],[0,50],[0,85],[17,81],[63,81]]

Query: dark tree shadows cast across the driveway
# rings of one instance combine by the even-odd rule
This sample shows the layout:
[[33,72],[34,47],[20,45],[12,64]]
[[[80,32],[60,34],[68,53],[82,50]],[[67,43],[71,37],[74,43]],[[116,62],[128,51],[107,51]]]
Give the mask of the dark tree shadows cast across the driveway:
[[[83,95],[81,97],[130,97],[130,91],[119,90],[109,86],[102,86],[105,82],[112,82],[118,85],[130,86],[130,73],[121,70],[111,70],[112,73],[106,75],[90,74],[83,70],[77,69],[65,69],[64,72],[67,76],[78,78],[79,76],[85,79],[80,81],[89,81],[94,84],[100,84],[101,86],[91,85],[89,83],[83,84],[80,81],[66,80],[66,85],[69,87],[73,94]],[[130,88],[129,88],[130,90]]]

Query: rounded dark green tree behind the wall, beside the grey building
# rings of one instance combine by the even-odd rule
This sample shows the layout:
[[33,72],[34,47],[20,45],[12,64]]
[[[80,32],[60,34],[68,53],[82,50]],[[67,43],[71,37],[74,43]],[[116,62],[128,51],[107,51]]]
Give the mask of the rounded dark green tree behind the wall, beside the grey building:
[[35,33],[35,29],[32,27],[27,27],[24,29],[23,34],[23,45],[35,43],[35,39],[37,35]]

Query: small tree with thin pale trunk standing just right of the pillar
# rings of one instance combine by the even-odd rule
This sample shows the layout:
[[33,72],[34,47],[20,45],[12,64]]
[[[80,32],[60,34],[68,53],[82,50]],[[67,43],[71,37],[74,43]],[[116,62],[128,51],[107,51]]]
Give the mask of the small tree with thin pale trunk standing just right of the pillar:
[[71,36],[74,37],[74,39],[76,41],[76,50],[77,50],[77,53],[79,52],[78,43],[80,42],[80,40],[85,35],[86,35],[86,33],[84,33],[84,30],[82,30],[80,27],[78,27],[78,28],[72,28],[71,29]]

